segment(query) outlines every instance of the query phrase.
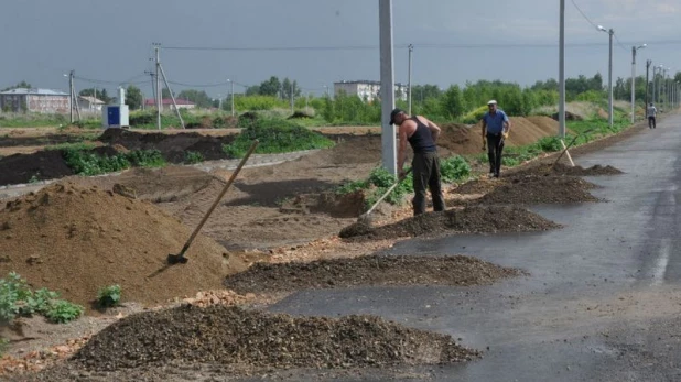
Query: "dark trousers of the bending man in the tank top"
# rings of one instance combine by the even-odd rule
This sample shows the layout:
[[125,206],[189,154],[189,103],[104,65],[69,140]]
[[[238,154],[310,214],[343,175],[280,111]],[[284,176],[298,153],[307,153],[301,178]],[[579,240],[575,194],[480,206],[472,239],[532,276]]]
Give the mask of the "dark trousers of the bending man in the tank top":
[[417,153],[411,162],[414,177],[414,198],[411,200],[414,215],[425,212],[425,187],[430,188],[433,209],[444,211],[444,197],[440,182],[440,159],[436,152]]

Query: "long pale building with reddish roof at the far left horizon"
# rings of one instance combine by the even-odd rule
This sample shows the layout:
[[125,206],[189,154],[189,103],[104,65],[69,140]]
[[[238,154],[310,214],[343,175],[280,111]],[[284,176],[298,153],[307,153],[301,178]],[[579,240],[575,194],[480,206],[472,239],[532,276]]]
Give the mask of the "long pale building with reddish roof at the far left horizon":
[[69,111],[69,98],[58,90],[17,88],[0,92],[0,110],[65,114]]

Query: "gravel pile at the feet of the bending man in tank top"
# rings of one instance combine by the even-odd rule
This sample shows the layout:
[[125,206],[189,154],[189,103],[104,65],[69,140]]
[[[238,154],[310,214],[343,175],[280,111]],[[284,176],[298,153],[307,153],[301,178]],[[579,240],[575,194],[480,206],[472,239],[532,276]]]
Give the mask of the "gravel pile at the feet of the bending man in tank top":
[[339,237],[355,240],[380,240],[439,233],[495,233],[545,231],[561,226],[519,207],[471,206],[411,217],[377,228],[354,223]]

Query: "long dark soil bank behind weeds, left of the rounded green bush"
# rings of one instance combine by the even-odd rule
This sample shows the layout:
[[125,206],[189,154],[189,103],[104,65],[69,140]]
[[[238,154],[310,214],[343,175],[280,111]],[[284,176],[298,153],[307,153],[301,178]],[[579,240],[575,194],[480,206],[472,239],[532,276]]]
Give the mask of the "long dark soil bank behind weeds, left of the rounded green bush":
[[185,161],[185,152],[193,151],[206,161],[229,159],[223,151],[223,144],[231,143],[235,135],[212,137],[196,132],[163,134],[138,133],[125,129],[107,129],[98,138],[109,145],[120,144],[128,150],[159,150],[171,163]]

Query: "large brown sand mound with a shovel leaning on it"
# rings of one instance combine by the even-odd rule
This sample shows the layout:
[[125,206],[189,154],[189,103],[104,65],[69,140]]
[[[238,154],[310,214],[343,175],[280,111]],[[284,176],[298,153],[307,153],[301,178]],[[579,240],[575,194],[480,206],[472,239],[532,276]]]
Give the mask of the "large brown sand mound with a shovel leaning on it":
[[97,187],[54,184],[0,210],[0,274],[15,271],[86,305],[106,285],[123,298],[156,304],[219,287],[244,261],[199,236],[187,264],[165,266],[190,228],[147,201]]

